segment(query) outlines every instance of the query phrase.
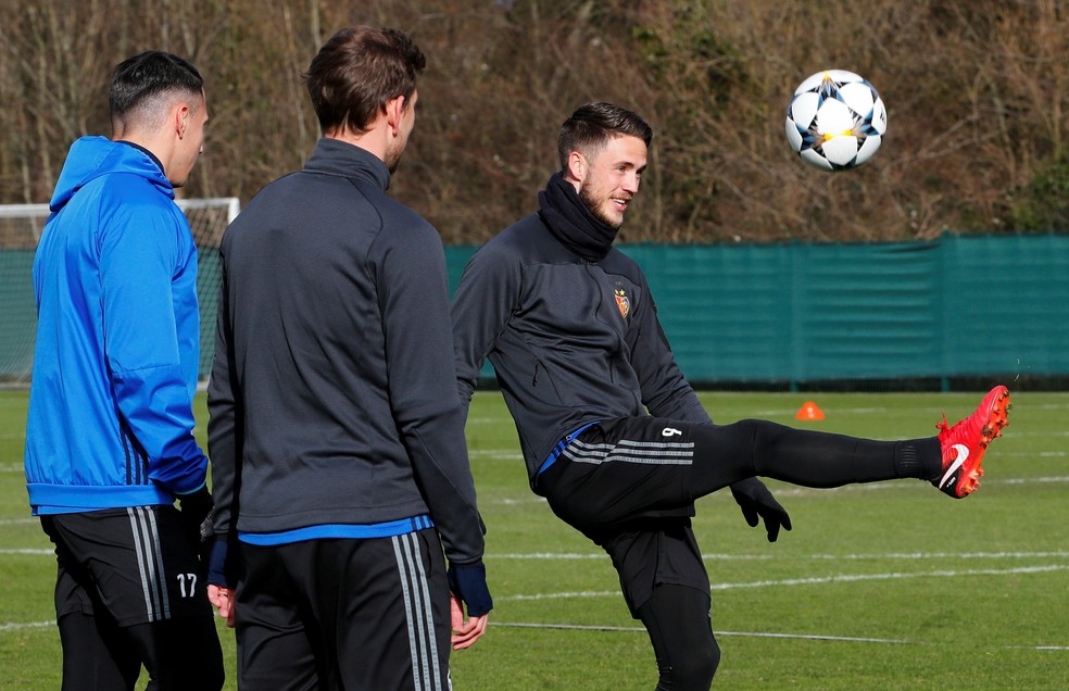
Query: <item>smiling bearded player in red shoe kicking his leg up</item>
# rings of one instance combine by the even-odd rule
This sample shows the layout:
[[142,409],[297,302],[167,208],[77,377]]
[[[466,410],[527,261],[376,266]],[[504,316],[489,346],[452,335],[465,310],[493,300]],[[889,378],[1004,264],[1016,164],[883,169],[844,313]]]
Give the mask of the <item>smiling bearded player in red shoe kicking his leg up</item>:
[[632,616],[650,633],[657,689],[712,683],[719,648],[709,580],[691,530],[694,501],[725,487],[769,541],[791,529],[756,476],[807,487],[900,477],[972,492],[1006,425],[996,387],[939,437],[872,441],[767,420],[715,425],[676,365],[641,268],[613,247],[653,133],[609,103],[561,128],[561,172],[539,211],[485,244],[453,300],[457,380],[469,401],[493,364],[531,489],[605,549]]

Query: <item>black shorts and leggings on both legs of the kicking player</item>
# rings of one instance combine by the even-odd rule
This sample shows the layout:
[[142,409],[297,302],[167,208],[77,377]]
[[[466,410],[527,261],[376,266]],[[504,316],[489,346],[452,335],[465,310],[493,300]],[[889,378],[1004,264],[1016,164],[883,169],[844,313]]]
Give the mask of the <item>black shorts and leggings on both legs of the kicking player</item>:
[[706,691],[720,650],[709,580],[691,530],[694,500],[751,477],[830,488],[939,472],[938,440],[875,441],[767,420],[732,425],[627,417],[594,425],[538,478],[553,512],[600,544],[650,633],[658,691]]

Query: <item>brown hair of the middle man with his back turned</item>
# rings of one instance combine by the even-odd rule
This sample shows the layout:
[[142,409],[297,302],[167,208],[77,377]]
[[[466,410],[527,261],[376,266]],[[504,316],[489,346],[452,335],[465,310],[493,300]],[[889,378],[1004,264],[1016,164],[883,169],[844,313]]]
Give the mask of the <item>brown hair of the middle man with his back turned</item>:
[[386,104],[399,96],[405,108],[427,59],[397,29],[354,26],[335,34],[304,73],[319,127],[366,131]]

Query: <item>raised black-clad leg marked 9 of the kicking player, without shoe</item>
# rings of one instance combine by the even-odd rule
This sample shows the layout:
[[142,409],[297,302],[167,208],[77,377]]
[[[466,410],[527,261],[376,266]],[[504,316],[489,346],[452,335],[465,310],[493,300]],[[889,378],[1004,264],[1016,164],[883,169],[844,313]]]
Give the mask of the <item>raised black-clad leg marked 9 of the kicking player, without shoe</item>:
[[[915,476],[896,462],[909,448]],[[693,515],[694,500],[751,477],[831,488],[900,477],[934,477],[935,437],[876,441],[767,420],[731,425],[624,417],[593,425],[538,478],[553,511],[592,537],[644,516]]]

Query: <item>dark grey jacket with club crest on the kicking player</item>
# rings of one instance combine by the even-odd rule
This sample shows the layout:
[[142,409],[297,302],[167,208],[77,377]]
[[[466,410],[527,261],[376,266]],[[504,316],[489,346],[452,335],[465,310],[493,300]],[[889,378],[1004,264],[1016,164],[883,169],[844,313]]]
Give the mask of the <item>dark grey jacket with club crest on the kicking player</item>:
[[586,423],[653,414],[709,422],[676,365],[639,265],[589,262],[538,214],[476,252],[453,298],[461,399],[487,357],[516,422],[531,489],[553,448]]

